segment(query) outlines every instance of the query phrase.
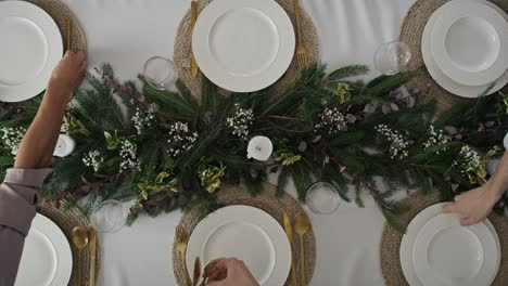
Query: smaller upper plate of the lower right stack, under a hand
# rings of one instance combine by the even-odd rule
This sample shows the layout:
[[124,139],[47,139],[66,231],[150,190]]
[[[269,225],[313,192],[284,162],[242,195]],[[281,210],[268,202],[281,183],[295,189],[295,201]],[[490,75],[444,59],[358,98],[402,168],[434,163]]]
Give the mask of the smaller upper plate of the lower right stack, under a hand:
[[412,262],[426,286],[487,286],[497,272],[494,235],[484,223],[460,225],[460,216],[443,213],[417,236]]

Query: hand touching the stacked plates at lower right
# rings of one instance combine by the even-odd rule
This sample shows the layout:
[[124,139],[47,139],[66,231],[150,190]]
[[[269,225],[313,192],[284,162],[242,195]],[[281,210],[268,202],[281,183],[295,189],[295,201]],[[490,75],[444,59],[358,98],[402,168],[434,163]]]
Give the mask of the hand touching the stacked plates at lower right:
[[455,203],[444,206],[444,212],[455,212],[462,217],[460,224],[471,225],[485,220],[491,214],[499,197],[491,185],[474,188],[455,197]]

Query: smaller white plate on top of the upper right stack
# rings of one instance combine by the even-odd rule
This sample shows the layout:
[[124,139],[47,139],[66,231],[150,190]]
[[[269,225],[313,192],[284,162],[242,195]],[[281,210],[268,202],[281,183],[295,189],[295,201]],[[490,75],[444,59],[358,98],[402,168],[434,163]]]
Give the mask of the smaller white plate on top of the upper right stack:
[[508,69],[508,22],[490,5],[453,0],[440,8],[432,53],[445,75],[465,86],[488,84]]

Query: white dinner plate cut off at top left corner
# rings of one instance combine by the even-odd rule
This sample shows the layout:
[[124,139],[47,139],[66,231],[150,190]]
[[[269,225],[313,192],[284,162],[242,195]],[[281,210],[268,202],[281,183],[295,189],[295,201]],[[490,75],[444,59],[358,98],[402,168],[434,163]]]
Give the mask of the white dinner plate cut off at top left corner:
[[0,1],[0,101],[25,101],[42,92],[63,54],[53,18],[28,2]]

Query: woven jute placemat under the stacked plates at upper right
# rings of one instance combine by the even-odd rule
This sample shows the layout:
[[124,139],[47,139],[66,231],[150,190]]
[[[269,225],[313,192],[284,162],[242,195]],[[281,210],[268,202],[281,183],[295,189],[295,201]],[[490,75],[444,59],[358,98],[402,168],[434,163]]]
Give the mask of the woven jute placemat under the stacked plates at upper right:
[[[401,27],[401,40],[409,46],[412,53],[412,57],[408,66],[409,69],[416,69],[424,65],[423,57],[421,55],[421,38],[423,29],[426,28],[427,22],[431,15],[448,1],[449,0],[417,0],[409,9],[409,12],[404,18]],[[491,2],[498,5],[504,11],[508,11],[508,1],[492,0]],[[408,87],[421,91],[421,95],[418,99],[420,103],[427,103],[435,99],[437,101],[440,112],[445,110],[459,102],[474,101],[462,99],[447,92],[440,87],[428,73],[412,80]]]

